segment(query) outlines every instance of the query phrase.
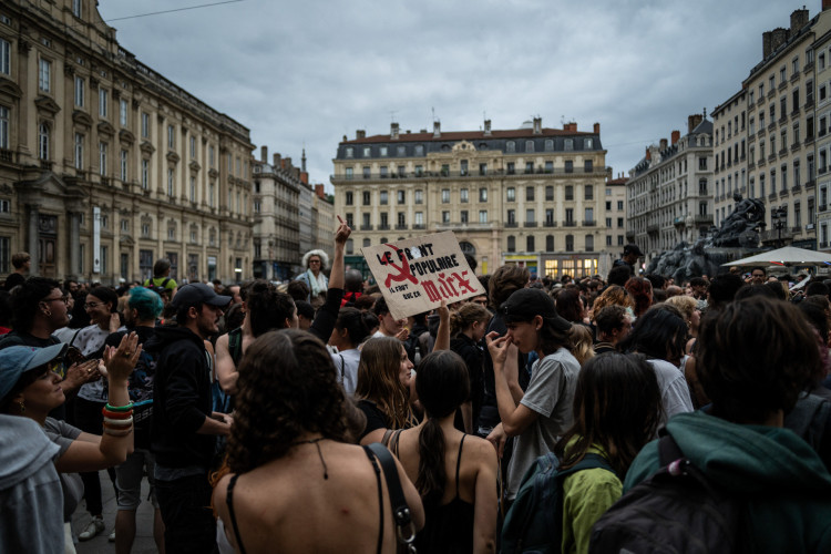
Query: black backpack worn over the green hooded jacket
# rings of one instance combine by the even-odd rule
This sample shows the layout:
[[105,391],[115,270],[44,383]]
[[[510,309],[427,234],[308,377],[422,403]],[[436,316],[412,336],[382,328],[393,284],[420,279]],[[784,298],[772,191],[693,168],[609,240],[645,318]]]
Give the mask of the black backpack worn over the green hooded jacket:
[[661,469],[623,495],[592,529],[589,553],[752,552],[745,502],[719,490],[678,448],[658,441]]

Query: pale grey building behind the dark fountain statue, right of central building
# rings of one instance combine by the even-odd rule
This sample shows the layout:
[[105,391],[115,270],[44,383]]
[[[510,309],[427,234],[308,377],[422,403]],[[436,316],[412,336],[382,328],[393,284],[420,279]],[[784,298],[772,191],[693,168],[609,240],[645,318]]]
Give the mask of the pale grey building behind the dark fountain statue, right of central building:
[[694,244],[712,226],[712,122],[690,115],[687,134],[646,147],[629,172],[626,236],[648,259],[680,242]]

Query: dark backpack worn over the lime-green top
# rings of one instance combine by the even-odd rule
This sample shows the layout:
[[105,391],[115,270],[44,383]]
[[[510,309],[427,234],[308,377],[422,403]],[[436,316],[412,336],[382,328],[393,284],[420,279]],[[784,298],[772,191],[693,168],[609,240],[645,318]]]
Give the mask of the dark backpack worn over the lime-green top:
[[614,473],[605,458],[586,454],[567,470],[558,471],[552,453],[541,455],[522,478],[502,525],[502,554],[556,553],[563,544],[563,481],[582,470],[603,468]]

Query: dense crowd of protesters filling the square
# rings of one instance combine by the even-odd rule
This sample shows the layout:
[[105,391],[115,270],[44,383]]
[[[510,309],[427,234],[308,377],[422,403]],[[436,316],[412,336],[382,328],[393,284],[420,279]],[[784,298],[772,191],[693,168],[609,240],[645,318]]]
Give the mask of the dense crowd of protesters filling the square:
[[179,285],[162,259],[115,289],[27,278],[16,255],[0,551],[71,553],[110,531],[131,552],[146,476],[158,552],[496,552],[553,453],[568,473],[550,546],[584,553],[664,466],[668,433],[742,499],[748,552],[831,552],[831,283],[761,267],[674,283],[638,274],[629,245],[605,279],[505,265],[480,277],[486,295],[400,319],[345,267],[349,234],[287,285]]

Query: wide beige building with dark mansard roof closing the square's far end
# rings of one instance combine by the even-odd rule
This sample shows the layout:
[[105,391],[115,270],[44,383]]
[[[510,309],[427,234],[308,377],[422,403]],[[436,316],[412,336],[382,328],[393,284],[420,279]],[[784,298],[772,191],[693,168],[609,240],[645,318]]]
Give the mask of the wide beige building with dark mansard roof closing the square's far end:
[[601,125],[400,132],[346,136],[334,160],[335,212],[355,229],[348,261],[360,248],[452,230],[474,256],[476,273],[519,264],[552,277],[598,271],[607,252],[605,183],[611,171]]

